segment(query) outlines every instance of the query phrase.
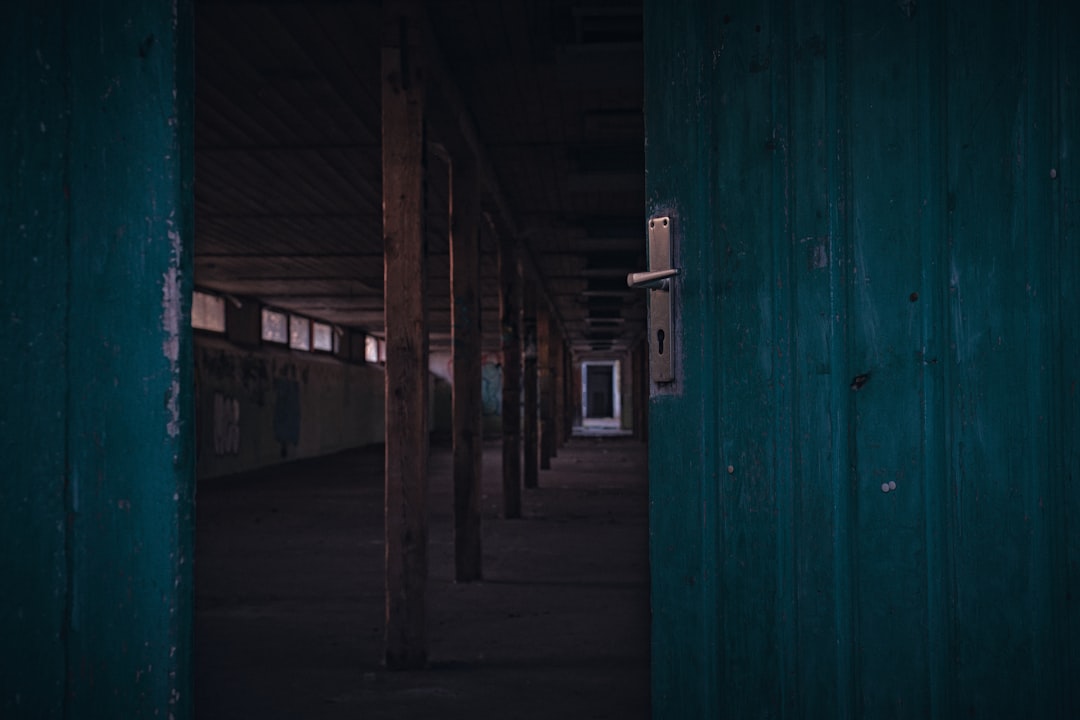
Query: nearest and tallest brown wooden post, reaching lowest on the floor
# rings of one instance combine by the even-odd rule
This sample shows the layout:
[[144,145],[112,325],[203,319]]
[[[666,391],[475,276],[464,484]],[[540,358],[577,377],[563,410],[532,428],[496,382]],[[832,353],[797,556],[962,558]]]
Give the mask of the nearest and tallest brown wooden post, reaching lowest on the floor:
[[418,3],[387,0],[382,26],[386,303],[386,664],[427,664],[428,318],[423,58]]

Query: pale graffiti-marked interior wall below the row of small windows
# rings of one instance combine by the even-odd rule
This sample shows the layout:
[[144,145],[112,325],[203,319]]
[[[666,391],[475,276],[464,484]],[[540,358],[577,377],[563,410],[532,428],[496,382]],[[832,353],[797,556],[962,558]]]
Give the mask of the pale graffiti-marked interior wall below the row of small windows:
[[381,366],[202,335],[194,344],[200,478],[383,441]]

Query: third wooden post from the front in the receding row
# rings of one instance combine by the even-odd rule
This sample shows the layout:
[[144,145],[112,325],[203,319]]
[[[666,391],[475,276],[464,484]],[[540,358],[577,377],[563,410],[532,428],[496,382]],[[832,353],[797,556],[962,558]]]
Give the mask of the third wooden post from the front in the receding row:
[[499,243],[499,315],[502,324],[502,514],[522,516],[522,301],[517,239]]

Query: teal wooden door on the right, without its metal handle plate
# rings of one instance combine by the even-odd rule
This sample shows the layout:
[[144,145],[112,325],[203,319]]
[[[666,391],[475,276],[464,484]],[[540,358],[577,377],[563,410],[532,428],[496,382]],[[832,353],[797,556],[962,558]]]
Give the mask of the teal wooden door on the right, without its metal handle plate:
[[1077,29],[646,0],[654,718],[1080,717]]

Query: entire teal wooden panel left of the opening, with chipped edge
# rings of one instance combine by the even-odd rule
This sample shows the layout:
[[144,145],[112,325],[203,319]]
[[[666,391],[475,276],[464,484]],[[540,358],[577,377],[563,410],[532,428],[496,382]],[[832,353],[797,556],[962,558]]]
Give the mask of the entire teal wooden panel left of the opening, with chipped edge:
[[191,6],[2,21],[0,714],[188,718]]

